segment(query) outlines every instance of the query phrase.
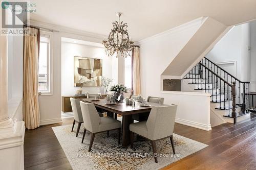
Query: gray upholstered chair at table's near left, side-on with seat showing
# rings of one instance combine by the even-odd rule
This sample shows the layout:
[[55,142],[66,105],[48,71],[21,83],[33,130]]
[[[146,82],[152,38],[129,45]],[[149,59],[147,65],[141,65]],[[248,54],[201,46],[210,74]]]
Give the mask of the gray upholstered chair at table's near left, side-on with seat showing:
[[100,117],[93,103],[80,102],[82,117],[84,122],[84,132],[82,142],[86,131],[91,132],[91,141],[88,152],[92,149],[93,140],[96,133],[118,130],[118,144],[120,144],[121,122],[111,117]]

